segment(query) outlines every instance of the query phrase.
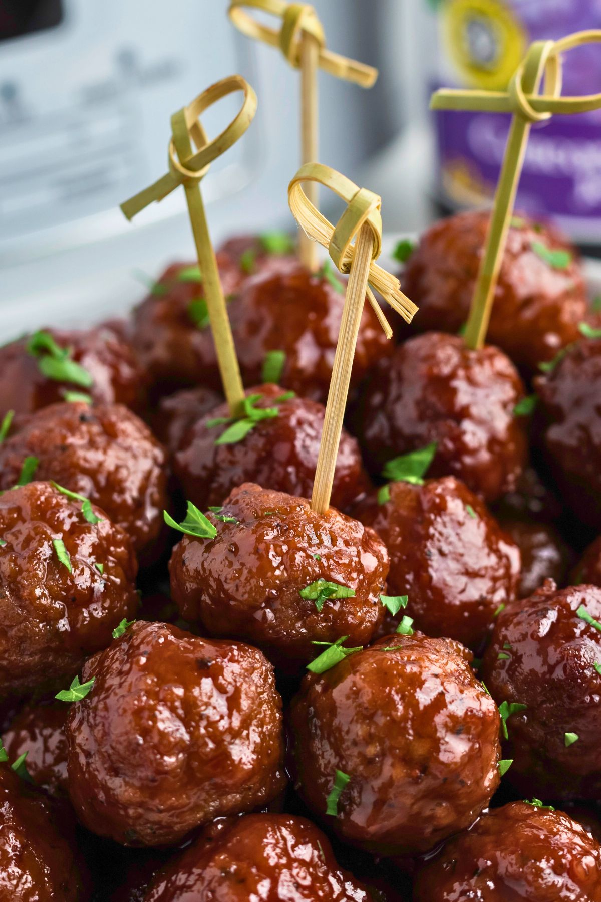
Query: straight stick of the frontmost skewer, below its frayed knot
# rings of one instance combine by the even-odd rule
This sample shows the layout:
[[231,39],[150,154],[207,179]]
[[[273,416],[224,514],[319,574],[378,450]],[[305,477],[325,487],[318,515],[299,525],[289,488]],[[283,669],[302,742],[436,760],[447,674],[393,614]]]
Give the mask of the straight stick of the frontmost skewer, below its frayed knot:
[[369,263],[371,262],[373,243],[374,236],[371,228],[361,226],[355,244],[355,255],[351,263],[351,275],[342,309],[341,328],[334,355],[332,381],[325,406],[322,440],[319,446],[313,494],[311,495],[311,507],[317,513],[325,513],[330,507],[342,421],[351,384],[352,363],[359,337],[365,292],[368,288]]

